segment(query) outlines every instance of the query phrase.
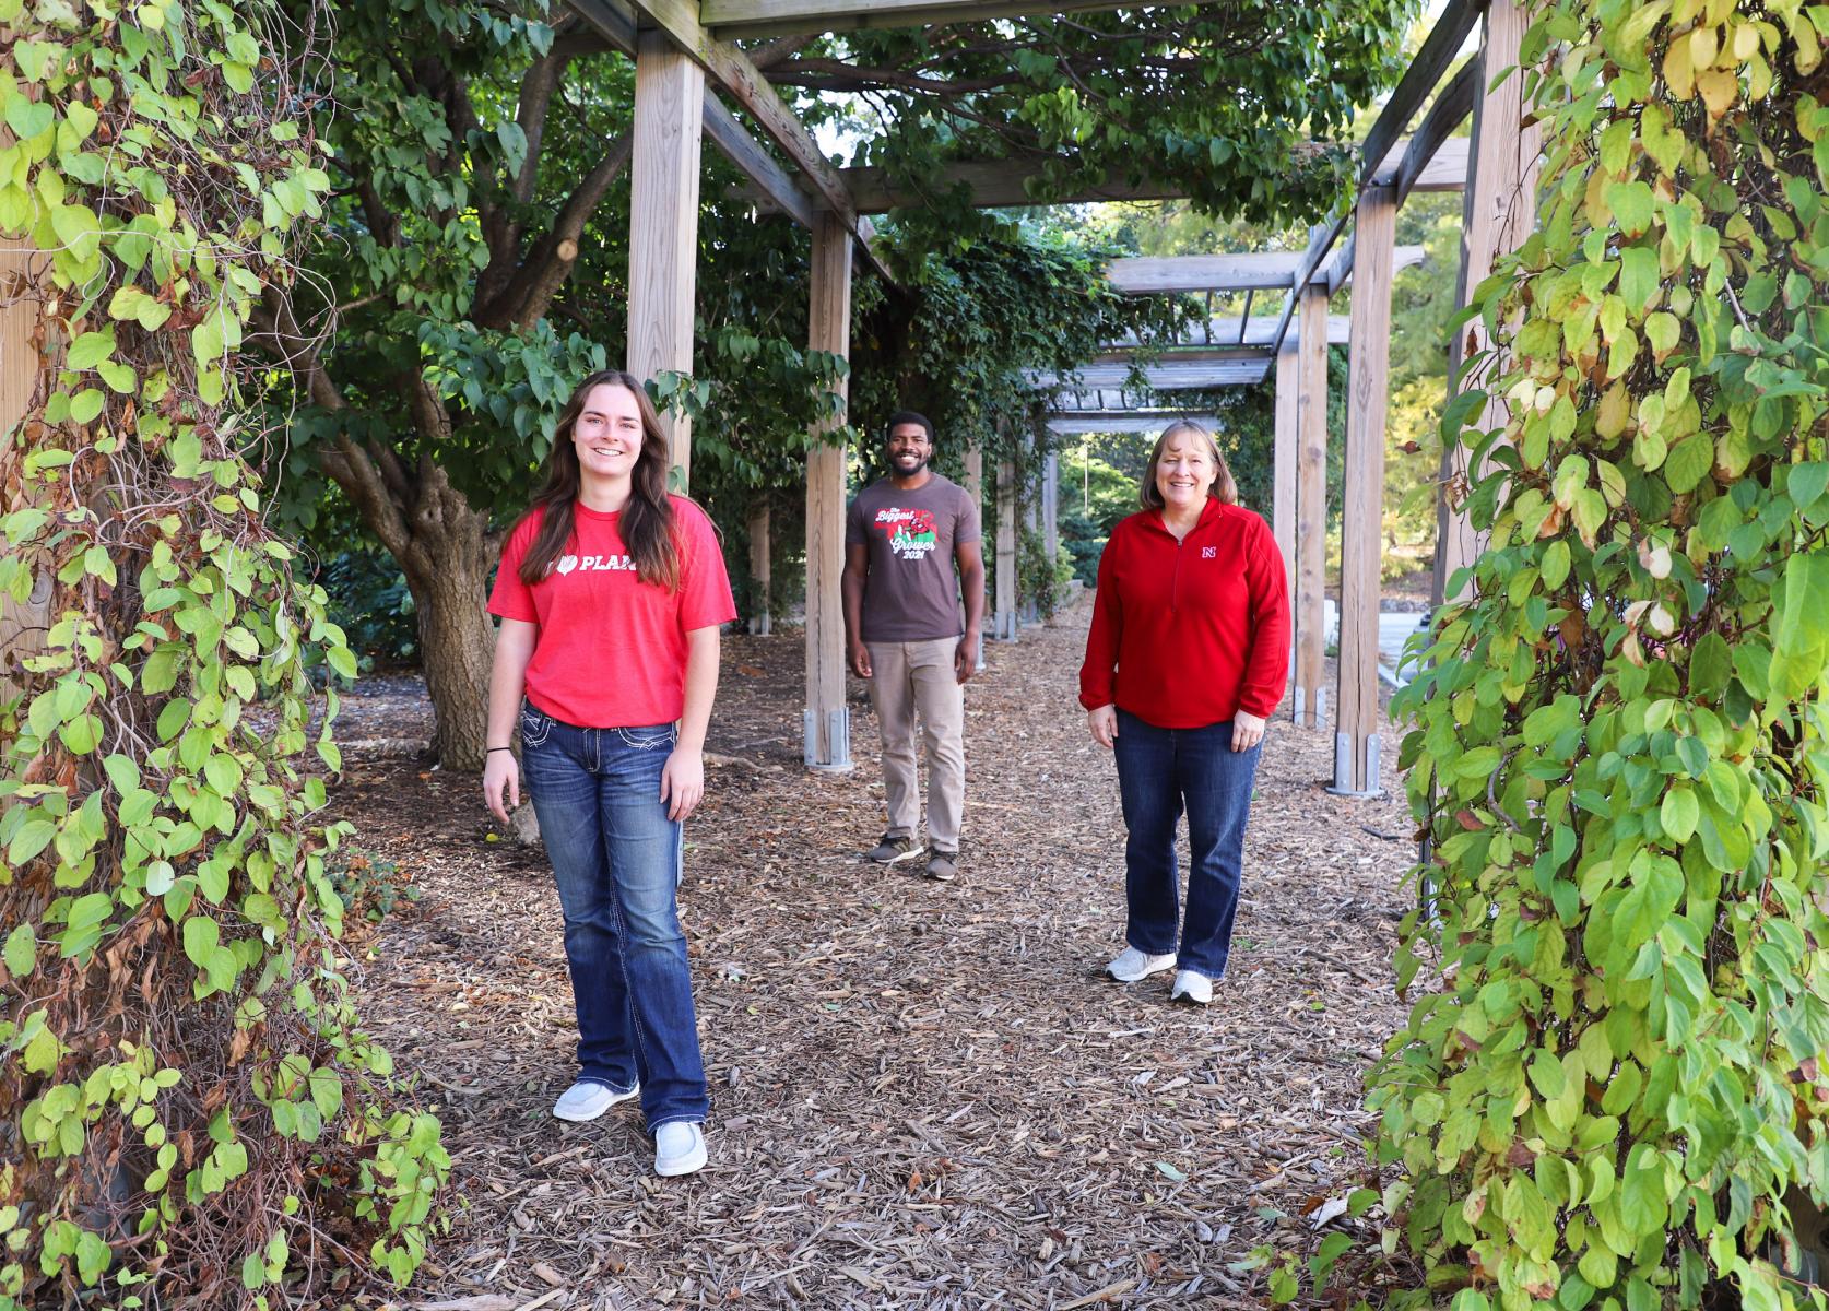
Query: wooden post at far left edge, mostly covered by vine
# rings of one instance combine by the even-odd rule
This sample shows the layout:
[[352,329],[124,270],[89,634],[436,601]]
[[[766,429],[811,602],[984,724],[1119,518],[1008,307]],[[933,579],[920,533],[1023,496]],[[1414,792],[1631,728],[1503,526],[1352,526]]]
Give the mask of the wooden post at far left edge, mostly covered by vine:
[[[4,128],[0,139],[13,144]],[[31,453],[15,444],[13,428],[26,417],[42,373],[37,283],[46,263],[27,243],[0,238],[0,516],[20,508],[13,499],[20,486],[16,474]],[[0,596],[0,700],[18,695],[18,687],[7,678],[18,669],[16,662],[37,655],[44,645],[51,622],[51,574],[38,570],[24,603]]]

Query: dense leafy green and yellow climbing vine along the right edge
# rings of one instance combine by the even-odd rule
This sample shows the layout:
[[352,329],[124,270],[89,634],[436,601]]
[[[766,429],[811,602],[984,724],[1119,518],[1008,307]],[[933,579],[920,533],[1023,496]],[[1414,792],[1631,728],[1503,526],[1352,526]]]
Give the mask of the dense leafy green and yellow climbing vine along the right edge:
[[1456,1311],[1824,1302],[1825,29],[1556,0],[1525,42],[1540,230],[1445,421],[1491,539],[1396,704],[1439,987],[1372,1090]]

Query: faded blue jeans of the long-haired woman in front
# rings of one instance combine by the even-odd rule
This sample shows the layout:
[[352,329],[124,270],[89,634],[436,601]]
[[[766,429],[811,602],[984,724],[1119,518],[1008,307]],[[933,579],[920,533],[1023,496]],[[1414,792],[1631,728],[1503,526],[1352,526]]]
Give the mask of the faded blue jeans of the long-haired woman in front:
[[565,912],[578,1077],[642,1084],[647,1128],[710,1110],[673,892],[680,825],[660,801],[673,726],[576,728],[521,709],[521,761]]

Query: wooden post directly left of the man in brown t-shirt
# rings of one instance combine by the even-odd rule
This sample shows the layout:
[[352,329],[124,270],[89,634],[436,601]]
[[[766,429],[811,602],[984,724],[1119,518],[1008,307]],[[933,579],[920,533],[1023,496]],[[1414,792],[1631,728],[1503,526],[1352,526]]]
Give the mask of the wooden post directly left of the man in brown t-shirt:
[[[829,210],[812,229],[808,346],[850,355],[850,234]],[[840,395],[845,380],[838,382]],[[838,424],[832,424],[834,428]],[[807,764],[850,768],[845,706],[845,446],[823,441],[807,452]]]

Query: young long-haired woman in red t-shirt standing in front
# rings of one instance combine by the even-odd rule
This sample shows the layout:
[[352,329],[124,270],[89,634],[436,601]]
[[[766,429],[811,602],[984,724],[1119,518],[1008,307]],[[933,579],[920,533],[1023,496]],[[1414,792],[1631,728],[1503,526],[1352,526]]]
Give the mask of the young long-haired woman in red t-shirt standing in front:
[[640,1093],[655,1172],[691,1174],[710,1101],[675,889],[680,821],[704,795],[717,631],[737,609],[717,530],[668,494],[668,466],[640,382],[587,377],[488,600],[483,797],[501,821],[521,803],[519,717],[578,1011],[578,1079],[552,1114],[596,1119]]

